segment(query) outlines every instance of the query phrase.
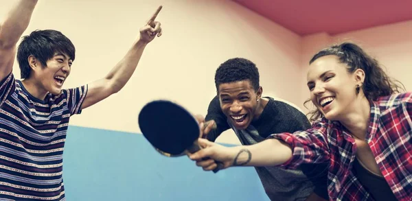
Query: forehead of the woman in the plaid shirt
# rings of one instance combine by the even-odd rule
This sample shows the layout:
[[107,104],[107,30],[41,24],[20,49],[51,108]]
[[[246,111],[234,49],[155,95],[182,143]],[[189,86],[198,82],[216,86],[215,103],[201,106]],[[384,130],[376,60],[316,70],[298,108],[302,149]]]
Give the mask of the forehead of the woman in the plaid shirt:
[[345,66],[345,64],[339,62],[337,56],[322,56],[321,58],[314,60],[314,62],[312,62],[312,64],[309,65],[307,80],[315,80],[326,71],[346,71]]

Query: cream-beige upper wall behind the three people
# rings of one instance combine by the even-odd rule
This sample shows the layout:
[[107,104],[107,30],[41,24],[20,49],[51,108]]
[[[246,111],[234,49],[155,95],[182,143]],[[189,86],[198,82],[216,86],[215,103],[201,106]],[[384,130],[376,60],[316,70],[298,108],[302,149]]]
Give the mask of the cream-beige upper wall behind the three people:
[[[13,2],[1,1],[2,16]],[[306,112],[308,60],[321,47],[343,40],[363,45],[391,75],[412,88],[408,79],[412,21],[337,36],[300,37],[232,1],[53,0],[39,1],[25,34],[58,29],[71,38],[77,55],[65,87],[78,86],[108,73],[158,5],[163,5],[158,16],[163,36],[148,45],[130,82],[73,117],[71,125],[140,132],[139,110],[157,98],[171,99],[192,113],[206,115],[216,93],[214,72],[233,57],[249,58],[258,65],[264,95],[286,99]],[[19,75],[17,65],[14,73]],[[231,131],[218,141],[239,143]]]

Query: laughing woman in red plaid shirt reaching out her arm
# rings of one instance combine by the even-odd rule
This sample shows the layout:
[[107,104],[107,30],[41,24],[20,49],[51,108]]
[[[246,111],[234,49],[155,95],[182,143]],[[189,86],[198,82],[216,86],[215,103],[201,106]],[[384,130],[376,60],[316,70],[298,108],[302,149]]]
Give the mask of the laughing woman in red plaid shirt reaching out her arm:
[[330,200],[411,200],[412,93],[353,43],[319,51],[307,78],[311,129],[237,147],[199,139],[205,149],[190,158],[205,170],[328,162]]

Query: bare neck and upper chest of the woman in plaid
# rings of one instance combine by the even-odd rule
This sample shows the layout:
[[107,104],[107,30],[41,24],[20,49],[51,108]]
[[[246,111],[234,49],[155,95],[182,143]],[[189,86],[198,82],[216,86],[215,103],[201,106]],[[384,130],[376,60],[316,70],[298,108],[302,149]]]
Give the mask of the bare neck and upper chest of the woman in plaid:
[[369,101],[364,95],[359,97],[347,108],[343,119],[339,120],[352,135],[358,139],[365,140],[369,117],[371,113]]

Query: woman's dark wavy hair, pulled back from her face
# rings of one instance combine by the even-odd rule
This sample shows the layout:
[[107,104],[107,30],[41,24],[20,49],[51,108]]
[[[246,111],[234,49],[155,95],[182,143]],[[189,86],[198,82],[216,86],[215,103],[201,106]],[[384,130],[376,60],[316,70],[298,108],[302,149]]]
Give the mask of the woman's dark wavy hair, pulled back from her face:
[[[350,73],[354,73],[356,69],[365,71],[365,82],[362,84],[362,90],[369,101],[376,101],[378,97],[405,91],[401,82],[390,78],[385,73],[378,60],[366,54],[361,47],[354,43],[346,42],[322,49],[312,57],[309,64],[312,64],[318,58],[329,55],[337,56],[339,62],[347,65],[347,71]],[[304,106],[308,108],[307,104],[310,102],[311,99],[307,99]],[[310,121],[314,121],[323,117],[323,114],[317,108],[314,108],[310,110],[308,117]]]

